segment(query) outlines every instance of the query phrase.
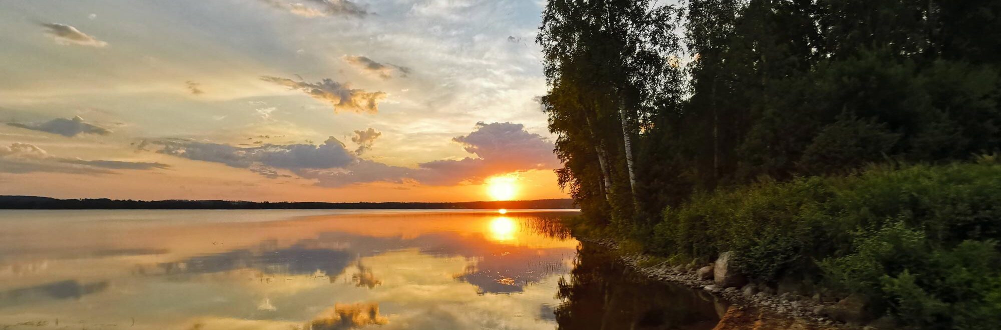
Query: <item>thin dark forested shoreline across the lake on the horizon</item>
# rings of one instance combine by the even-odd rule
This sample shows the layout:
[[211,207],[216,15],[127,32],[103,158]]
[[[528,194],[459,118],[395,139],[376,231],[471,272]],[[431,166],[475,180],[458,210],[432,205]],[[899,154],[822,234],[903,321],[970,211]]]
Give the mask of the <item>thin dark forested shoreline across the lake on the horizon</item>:
[[0,210],[490,210],[577,209],[574,200],[475,202],[248,202],[227,200],[57,199],[0,196]]

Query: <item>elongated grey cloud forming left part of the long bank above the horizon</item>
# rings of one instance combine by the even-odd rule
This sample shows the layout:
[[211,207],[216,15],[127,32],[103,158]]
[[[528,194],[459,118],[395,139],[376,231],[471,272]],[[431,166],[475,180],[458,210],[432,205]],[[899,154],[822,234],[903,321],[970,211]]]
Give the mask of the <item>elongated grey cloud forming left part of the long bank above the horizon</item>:
[[277,175],[277,172],[256,166],[288,170],[327,169],[344,167],[354,161],[354,155],[332,136],[321,145],[264,144],[258,147],[240,148],[228,144],[180,139],[149,141],[146,145],[159,145],[161,148],[156,150],[158,153],[191,160],[221,163],[238,168],[254,166],[252,169],[254,172],[269,177]]

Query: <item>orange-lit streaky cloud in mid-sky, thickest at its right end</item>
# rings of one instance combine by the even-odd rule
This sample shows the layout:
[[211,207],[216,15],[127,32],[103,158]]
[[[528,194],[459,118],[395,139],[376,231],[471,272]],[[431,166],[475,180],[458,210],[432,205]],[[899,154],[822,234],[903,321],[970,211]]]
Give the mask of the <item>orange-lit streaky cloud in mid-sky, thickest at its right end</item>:
[[260,79],[301,90],[314,99],[328,102],[333,106],[334,112],[346,110],[357,113],[378,113],[378,102],[386,97],[384,92],[367,92],[361,89],[351,89],[350,85],[341,84],[331,79],[323,79],[323,81],[318,83],[307,83],[269,76],[261,76]]

